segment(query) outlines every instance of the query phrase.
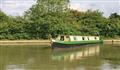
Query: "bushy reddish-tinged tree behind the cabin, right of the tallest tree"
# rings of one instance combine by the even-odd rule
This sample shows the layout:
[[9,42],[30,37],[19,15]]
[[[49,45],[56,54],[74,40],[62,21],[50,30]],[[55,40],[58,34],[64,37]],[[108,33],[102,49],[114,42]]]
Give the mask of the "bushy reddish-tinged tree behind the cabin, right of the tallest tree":
[[100,26],[105,19],[102,12],[88,10],[86,12],[79,12],[71,10],[76,28],[81,35],[100,35]]

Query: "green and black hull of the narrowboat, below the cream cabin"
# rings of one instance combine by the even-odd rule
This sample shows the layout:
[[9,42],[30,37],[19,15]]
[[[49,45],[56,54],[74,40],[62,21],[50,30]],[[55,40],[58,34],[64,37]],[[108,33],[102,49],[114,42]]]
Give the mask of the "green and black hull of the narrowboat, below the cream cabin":
[[75,47],[75,46],[98,44],[98,43],[103,43],[103,40],[96,40],[96,41],[69,41],[69,42],[56,41],[56,42],[52,43],[52,48],[55,48],[55,47],[60,47],[60,48]]

